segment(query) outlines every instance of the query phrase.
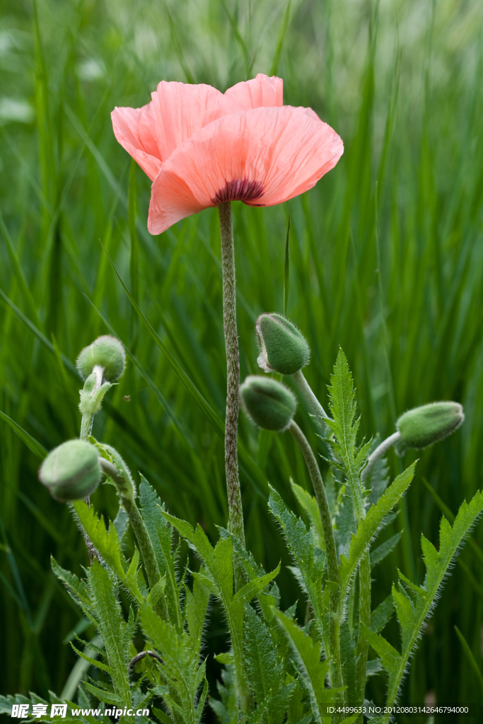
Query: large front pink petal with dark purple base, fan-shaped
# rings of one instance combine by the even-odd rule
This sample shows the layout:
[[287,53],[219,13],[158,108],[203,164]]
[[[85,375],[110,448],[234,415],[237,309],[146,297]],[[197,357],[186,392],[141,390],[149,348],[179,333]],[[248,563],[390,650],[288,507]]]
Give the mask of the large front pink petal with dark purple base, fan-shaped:
[[312,188],[340,159],[343,142],[305,110],[282,106],[242,111],[191,136],[154,180],[151,234],[222,201],[273,206]]

